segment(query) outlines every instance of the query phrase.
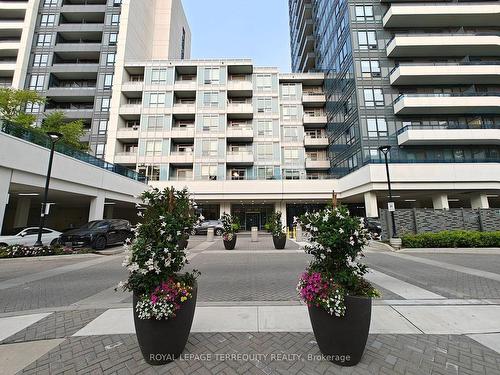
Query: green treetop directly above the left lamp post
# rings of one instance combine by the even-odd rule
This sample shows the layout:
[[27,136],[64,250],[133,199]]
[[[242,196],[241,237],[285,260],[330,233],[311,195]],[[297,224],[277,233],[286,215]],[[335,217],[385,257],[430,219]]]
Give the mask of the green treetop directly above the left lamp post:
[[66,122],[63,112],[53,112],[45,117],[40,130],[44,133],[61,133],[63,135],[61,140],[63,143],[66,143],[77,150],[89,150],[87,145],[80,142],[81,137],[85,134],[83,120]]

